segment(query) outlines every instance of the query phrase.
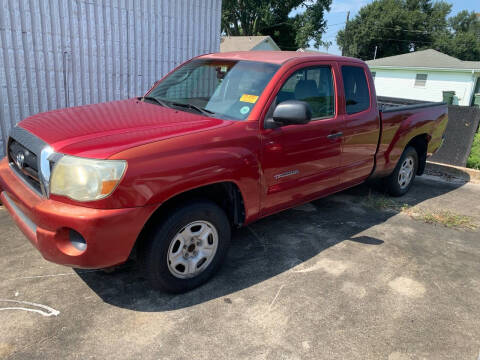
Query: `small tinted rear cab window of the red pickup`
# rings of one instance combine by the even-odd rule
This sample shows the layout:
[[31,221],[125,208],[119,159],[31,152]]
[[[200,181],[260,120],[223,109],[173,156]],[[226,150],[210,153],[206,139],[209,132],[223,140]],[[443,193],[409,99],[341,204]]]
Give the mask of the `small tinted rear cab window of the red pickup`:
[[342,66],[345,111],[356,114],[370,108],[370,91],[365,70],[360,66]]

